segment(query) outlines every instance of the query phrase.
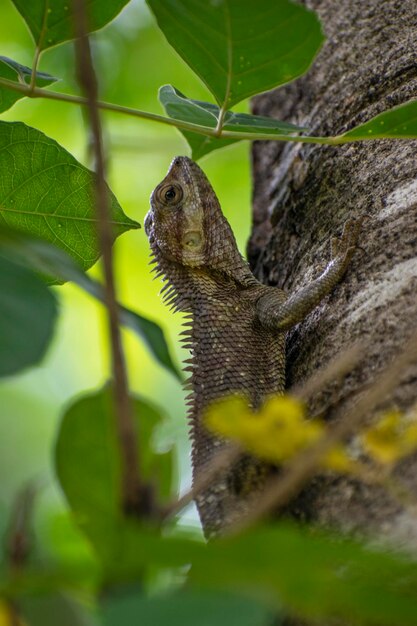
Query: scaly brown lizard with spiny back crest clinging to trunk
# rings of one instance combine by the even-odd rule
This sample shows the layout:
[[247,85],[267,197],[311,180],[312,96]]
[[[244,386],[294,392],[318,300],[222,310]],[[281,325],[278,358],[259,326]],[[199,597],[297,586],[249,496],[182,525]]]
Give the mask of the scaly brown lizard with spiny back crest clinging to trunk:
[[[260,283],[240,254],[232,229],[201,168],[176,157],[154,189],[145,217],[154,270],[164,300],[185,313],[183,342],[191,352],[187,399],[193,480],[225,442],[204,427],[210,403],[231,394],[257,408],[285,387],[285,334],[341,280],[355,251],[361,220],[346,222],[331,240],[331,260],[322,274],[294,294]],[[242,455],[196,496],[207,537],[222,534],[262,490],[266,463]]]

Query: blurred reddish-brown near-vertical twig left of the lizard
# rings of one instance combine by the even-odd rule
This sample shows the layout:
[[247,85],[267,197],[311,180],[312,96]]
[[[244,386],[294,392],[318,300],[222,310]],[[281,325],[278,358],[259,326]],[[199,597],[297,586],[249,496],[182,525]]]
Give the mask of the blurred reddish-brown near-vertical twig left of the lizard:
[[81,89],[86,96],[96,166],[96,211],[98,236],[103,258],[105,279],[105,304],[108,312],[111,344],[113,391],[116,422],[122,451],[123,508],[126,513],[139,516],[146,513],[146,488],[139,473],[138,433],[132,418],[125,358],[119,327],[119,311],[113,270],[113,233],[110,224],[109,194],[105,182],[106,163],[103,149],[100,116],[97,106],[97,80],[94,72],[90,43],[87,36],[85,0],[73,0],[77,39],[77,74]]

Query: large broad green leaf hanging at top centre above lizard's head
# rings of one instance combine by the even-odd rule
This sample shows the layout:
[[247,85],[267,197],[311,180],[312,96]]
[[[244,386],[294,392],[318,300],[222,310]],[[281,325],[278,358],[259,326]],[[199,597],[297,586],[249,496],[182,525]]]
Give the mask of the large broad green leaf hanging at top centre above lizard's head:
[[147,0],[165,37],[229,109],[303,74],[323,41],[314,13],[289,0]]

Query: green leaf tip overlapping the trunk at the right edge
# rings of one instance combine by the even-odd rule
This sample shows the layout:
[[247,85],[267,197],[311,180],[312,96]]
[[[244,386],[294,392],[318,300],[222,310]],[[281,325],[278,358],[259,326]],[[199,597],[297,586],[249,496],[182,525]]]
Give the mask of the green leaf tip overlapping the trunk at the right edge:
[[384,111],[337,139],[417,139],[417,100]]

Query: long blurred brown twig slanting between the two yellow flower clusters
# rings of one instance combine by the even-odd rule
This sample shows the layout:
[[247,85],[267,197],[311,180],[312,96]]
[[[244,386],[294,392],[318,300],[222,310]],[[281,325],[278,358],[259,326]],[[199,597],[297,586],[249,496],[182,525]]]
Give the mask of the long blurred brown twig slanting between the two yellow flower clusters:
[[340,421],[329,427],[318,443],[294,457],[278,480],[271,479],[261,497],[253,498],[252,505],[248,507],[249,513],[230,532],[234,534],[244,530],[299,493],[319,468],[324,455],[357,431],[370,412],[396,388],[407,367],[416,360],[417,333],[410,337],[407,348],[378,375],[376,382],[344,413]]

